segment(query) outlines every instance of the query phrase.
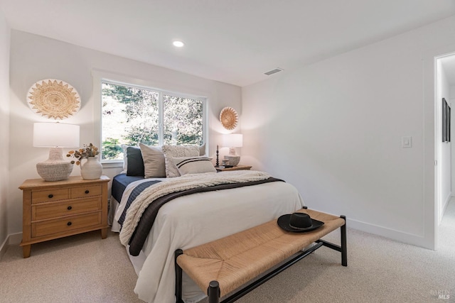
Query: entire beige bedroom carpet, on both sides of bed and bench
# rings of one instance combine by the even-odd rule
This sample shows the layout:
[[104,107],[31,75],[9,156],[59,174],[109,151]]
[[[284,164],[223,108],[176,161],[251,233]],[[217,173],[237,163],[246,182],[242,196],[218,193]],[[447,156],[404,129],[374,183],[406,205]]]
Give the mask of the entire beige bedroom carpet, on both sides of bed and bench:
[[[347,268],[323,247],[237,302],[455,302],[455,201],[438,240],[432,251],[348,228]],[[0,260],[0,302],[141,302],[136,278],[115,233],[39,243],[27,259],[10,246]]]

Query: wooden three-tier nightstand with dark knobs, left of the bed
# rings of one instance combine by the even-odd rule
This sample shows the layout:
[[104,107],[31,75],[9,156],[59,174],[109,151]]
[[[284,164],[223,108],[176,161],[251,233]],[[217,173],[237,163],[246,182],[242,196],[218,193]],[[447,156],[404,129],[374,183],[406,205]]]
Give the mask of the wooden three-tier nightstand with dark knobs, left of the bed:
[[28,258],[31,244],[100,229],[107,236],[107,182],[69,177],[48,182],[43,179],[24,181],[22,250]]

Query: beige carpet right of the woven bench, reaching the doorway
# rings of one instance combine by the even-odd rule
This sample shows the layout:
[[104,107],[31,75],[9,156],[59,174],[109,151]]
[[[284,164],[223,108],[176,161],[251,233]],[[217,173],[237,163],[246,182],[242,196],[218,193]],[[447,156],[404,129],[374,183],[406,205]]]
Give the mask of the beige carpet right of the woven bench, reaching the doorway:
[[348,228],[347,268],[323,247],[237,302],[455,302],[454,199],[438,240],[433,251]]

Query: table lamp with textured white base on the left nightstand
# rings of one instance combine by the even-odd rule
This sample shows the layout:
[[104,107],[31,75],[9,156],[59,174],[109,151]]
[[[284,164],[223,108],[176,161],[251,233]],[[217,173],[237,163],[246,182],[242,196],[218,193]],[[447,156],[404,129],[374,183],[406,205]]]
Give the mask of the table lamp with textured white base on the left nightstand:
[[33,146],[50,148],[49,158],[36,164],[36,170],[45,181],[67,180],[73,164],[63,160],[62,148],[79,146],[79,126],[66,123],[34,123]]

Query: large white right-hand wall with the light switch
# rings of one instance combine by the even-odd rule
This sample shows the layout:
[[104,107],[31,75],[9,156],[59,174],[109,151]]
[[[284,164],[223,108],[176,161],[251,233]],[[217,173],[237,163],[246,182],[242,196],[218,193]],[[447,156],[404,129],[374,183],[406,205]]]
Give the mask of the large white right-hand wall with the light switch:
[[454,32],[445,19],[243,87],[242,159],[351,227],[434,248],[432,56]]

